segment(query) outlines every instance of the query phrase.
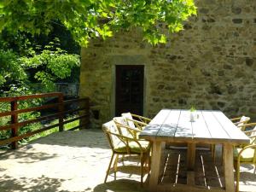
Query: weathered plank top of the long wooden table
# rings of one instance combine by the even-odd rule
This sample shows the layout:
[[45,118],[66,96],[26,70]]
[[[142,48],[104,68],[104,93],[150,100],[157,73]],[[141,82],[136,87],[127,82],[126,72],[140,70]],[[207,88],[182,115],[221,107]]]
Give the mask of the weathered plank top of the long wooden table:
[[190,121],[189,110],[162,109],[145,127],[140,138],[187,143],[249,143],[249,138],[221,111],[197,110]]

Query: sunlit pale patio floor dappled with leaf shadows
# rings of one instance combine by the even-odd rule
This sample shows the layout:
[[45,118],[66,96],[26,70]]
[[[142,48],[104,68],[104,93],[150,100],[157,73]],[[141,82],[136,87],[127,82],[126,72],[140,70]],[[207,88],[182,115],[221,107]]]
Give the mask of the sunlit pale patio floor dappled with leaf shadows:
[[[166,171],[162,182],[186,182],[185,150],[166,150]],[[125,166],[120,162],[117,180],[113,174],[108,183],[103,183],[111,156],[108,142],[101,130],[64,131],[19,148],[0,154],[0,191],[47,191],[47,192],[129,192],[145,191],[140,186],[137,161],[131,157]],[[209,151],[197,153],[195,184],[221,187],[223,182],[222,166],[216,167],[220,177],[216,177],[216,168],[209,158]],[[176,176],[179,158],[179,174]],[[202,172],[202,160],[206,172]],[[241,191],[256,191],[254,167],[241,166]],[[147,175],[145,176],[145,180]],[[147,183],[146,183],[147,184]]]

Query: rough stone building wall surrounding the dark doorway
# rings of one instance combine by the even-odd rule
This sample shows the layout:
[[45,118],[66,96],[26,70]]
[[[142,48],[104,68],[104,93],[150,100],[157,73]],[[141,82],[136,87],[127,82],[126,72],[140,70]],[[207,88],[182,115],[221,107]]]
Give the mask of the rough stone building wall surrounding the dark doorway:
[[[161,108],[220,109],[256,119],[256,1],[195,0],[197,16],[167,44],[151,46],[138,30],[96,39],[81,51],[80,96],[91,123],[115,115],[118,65],[143,65],[143,114]],[[165,27],[165,26],[161,26]]]

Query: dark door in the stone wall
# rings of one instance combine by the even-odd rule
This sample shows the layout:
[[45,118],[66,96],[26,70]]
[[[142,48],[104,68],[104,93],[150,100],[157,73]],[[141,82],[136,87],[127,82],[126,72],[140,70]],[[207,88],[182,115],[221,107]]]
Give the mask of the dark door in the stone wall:
[[144,66],[116,66],[115,115],[143,115]]

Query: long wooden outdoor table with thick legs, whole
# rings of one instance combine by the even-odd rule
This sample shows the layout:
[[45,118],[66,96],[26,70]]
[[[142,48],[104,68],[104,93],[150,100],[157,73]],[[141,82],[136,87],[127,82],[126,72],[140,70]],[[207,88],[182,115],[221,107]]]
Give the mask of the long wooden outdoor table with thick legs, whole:
[[[189,110],[162,109],[152,119],[140,138],[153,143],[151,161],[151,174],[149,189],[158,191],[170,189],[172,191],[200,191],[194,186],[183,185],[173,187],[172,184],[163,187],[159,184],[161,152],[164,143],[188,143],[187,161],[188,169],[193,170],[195,165],[195,144],[208,143],[224,145],[224,190],[212,189],[212,191],[234,192],[233,173],[233,145],[247,144],[249,138],[234,125],[221,111],[197,110],[198,119],[190,121]],[[206,189],[201,189],[202,191]]]

